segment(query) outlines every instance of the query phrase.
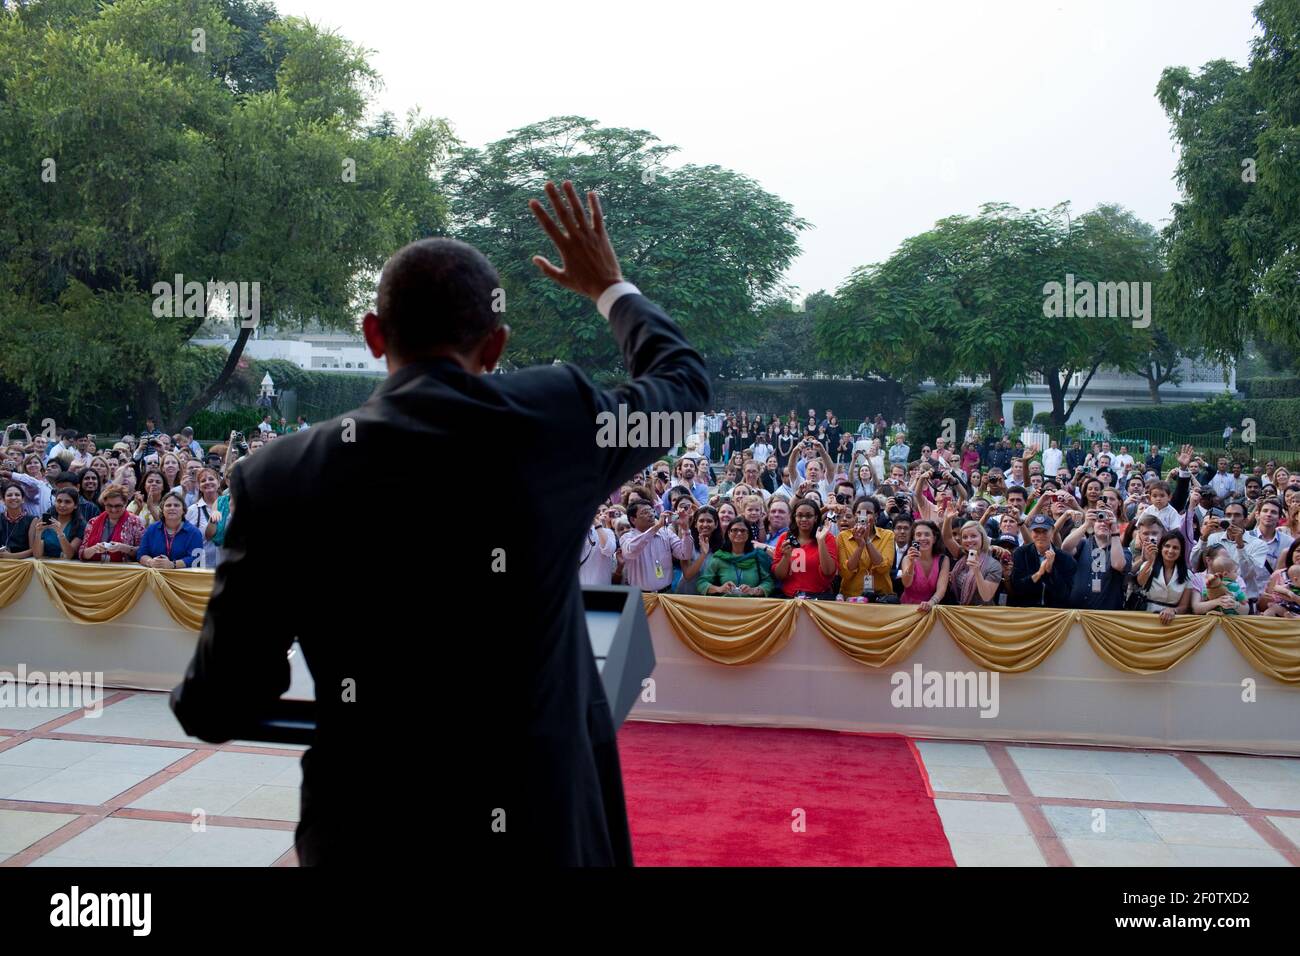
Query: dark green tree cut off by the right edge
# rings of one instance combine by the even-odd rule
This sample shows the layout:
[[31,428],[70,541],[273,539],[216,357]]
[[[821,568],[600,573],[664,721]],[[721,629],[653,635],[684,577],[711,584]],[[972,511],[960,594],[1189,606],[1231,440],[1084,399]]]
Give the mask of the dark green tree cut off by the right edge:
[[1165,228],[1170,307],[1227,362],[1252,337],[1300,350],[1300,0],[1254,8],[1247,69],[1167,68],[1183,191]]

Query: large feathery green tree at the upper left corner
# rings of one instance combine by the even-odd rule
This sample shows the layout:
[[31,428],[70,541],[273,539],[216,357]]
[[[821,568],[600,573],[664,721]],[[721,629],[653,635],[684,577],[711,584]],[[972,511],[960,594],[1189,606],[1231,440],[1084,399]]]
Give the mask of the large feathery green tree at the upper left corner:
[[419,114],[370,135],[376,83],[359,48],[264,4],[0,13],[0,377],[72,411],[127,393],[178,425],[234,375],[254,323],[161,415],[204,321],[157,315],[176,274],[256,282],[264,326],[351,328],[385,258],[442,228],[433,166],[454,142]]

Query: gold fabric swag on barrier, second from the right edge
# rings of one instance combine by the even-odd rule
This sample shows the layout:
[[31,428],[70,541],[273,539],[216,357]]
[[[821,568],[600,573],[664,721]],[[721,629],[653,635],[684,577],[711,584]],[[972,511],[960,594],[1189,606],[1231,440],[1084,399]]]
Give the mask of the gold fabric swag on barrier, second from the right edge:
[[[1182,663],[1209,640],[1217,623],[1212,617],[1179,614],[1166,624],[1156,614],[1134,611],[1088,611],[1079,618],[1097,657],[1130,674],[1160,674]],[[1300,631],[1292,627],[1292,635]]]

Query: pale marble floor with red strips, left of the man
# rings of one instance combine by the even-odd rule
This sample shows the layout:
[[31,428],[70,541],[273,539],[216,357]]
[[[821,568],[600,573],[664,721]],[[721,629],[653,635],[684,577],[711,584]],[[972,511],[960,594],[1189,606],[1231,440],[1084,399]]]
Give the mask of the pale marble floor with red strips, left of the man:
[[0,866],[295,866],[304,748],[187,736],[165,693],[0,711]]

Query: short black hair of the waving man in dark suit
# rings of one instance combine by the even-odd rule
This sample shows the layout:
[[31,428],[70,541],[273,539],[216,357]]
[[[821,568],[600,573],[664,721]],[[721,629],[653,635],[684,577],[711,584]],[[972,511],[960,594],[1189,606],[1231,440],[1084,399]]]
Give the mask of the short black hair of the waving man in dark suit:
[[488,258],[458,239],[420,239],[384,265],[376,313],[389,347],[404,358],[468,349],[499,325],[500,278]]

